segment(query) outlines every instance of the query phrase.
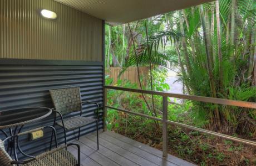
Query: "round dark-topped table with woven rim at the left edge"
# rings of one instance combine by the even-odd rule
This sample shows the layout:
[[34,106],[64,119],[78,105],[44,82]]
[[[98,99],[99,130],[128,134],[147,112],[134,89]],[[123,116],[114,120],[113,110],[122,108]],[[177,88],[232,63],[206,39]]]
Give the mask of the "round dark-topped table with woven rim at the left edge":
[[[51,113],[52,113],[51,108],[46,108],[46,107],[26,107],[26,108],[16,108],[13,110],[0,111],[0,131],[2,131],[4,135],[8,137],[7,132],[4,131],[3,129],[9,128],[9,132],[10,132],[9,136],[13,136],[21,132],[21,129],[24,125],[42,120],[43,118],[50,116]],[[12,127],[14,127],[14,132],[12,130]],[[20,128],[18,129],[18,127]],[[7,152],[9,147],[11,147],[10,155],[12,155],[12,149],[13,149],[14,157],[16,160],[18,160],[15,145],[16,145],[15,139],[12,139],[11,141],[9,141]],[[18,149],[21,152],[21,149],[19,148],[19,146],[18,146]]]

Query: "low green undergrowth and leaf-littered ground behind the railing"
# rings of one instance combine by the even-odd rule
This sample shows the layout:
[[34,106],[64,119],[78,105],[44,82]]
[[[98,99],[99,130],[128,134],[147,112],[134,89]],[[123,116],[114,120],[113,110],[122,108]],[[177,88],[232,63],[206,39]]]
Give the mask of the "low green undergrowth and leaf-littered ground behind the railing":
[[[155,90],[169,90],[165,80],[155,80]],[[158,81],[158,82],[157,82]],[[111,84],[111,79],[106,79],[107,84]],[[136,84],[129,81],[117,81],[116,86],[137,88]],[[145,95],[145,94],[144,94]],[[151,96],[145,95],[147,100]],[[161,118],[162,98],[154,96],[157,117]],[[150,115],[141,94],[109,90],[107,94],[107,104],[125,108],[134,112]],[[196,127],[205,127],[207,122],[193,116],[195,110],[190,101],[170,100],[168,105],[168,120],[185,123]],[[196,119],[198,118],[198,119]],[[162,149],[161,123],[160,129],[155,128],[154,121],[139,116],[129,115],[124,112],[117,112],[109,109],[107,112],[107,128],[136,141],[145,143],[157,149]],[[255,139],[254,133],[239,135],[235,137]],[[173,125],[168,126],[168,149],[169,153],[179,158],[188,160],[198,165],[256,165],[256,149],[242,143],[221,139],[209,134],[203,134],[190,129]]]

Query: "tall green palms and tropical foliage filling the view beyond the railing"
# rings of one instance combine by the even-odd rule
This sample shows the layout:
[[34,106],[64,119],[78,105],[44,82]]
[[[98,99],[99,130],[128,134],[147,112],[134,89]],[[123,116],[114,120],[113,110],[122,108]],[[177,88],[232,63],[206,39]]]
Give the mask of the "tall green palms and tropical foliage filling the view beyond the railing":
[[[157,73],[169,69],[177,72],[176,81],[183,85],[184,94],[256,102],[255,23],[256,1],[219,0],[107,27],[106,67],[119,66],[122,74],[130,66],[149,66],[150,81],[147,87],[137,85],[141,89],[168,89],[163,80],[163,84],[159,82]],[[124,85],[127,86],[119,86]],[[110,98],[113,99],[113,96]],[[132,98],[111,104],[124,106]],[[161,117],[160,98],[141,94],[139,99],[139,107],[143,108],[144,113]],[[135,107],[124,107],[136,110]],[[180,111],[175,112],[175,109]],[[194,101],[184,101],[183,107],[176,106],[175,109],[169,107],[171,120],[221,133],[256,138],[255,110]],[[136,121],[139,125],[145,125],[144,122],[140,123],[140,118]],[[136,127],[132,122],[129,124]],[[154,123],[153,128],[149,130],[159,131],[159,124]],[[181,135],[179,133],[177,137]]]

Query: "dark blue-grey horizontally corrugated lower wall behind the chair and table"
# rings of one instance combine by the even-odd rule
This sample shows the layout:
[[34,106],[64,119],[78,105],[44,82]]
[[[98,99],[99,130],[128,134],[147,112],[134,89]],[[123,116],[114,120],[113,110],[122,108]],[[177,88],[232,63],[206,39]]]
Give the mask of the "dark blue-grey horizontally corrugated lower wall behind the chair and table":
[[[103,102],[103,65],[101,62],[86,63],[83,61],[60,60],[20,60],[0,59],[0,111],[28,106],[44,106],[52,108],[48,90],[80,86],[82,101]],[[95,117],[96,107],[85,105],[83,116]],[[75,113],[78,115],[78,113]],[[102,115],[101,115],[102,119]],[[37,123],[24,127],[52,125],[53,117],[45,118]],[[102,121],[100,121],[102,128]],[[95,131],[93,123],[81,128],[81,133]],[[57,127],[59,141],[63,143],[63,131]],[[75,139],[78,130],[67,133],[67,139]],[[2,133],[1,133],[2,134]],[[0,138],[3,135],[0,134]],[[46,132],[44,141],[27,142],[22,137],[22,149],[29,154],[41,152],[48,148],[50,132]]]

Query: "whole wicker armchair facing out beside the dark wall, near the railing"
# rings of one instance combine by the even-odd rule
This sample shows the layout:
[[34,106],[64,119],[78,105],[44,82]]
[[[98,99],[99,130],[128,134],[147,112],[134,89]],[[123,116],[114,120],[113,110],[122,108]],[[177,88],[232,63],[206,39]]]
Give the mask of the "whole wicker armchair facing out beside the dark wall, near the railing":
[[[96,102],[90,101],[81,101],[80,87],[71,87],[66,89],[55,89],[50,90],[50,94],[52,97],[53,105],[55,108],[52,109],[55,112],[55,120],[53,123],[53,127],[55,124],[61,126],[64,130],[65,134],[65,143],[67,143],[66,138],[66,130],[72,130],[79,128],[78,131],[78,139],[80,138],[80,128],[86,126],[90,123],[96,122],[97,127],[97,150],[99,150],[99,136],[98,136],[98,119],[99,119],[99,109],[100,105]],[[92,103],[97,106],[97,118],[89,118],[82,116],[82,105],[84,103]],[[71,117],[68,119],[63,119],[62,115],[66,115],[71,112],[80,112],[80,116]],[[61,122],[56,123],[56,116],[60,115]],[[52,140],[52,138],[51,138]],[[51,141],[52,142],[52,141]]]

